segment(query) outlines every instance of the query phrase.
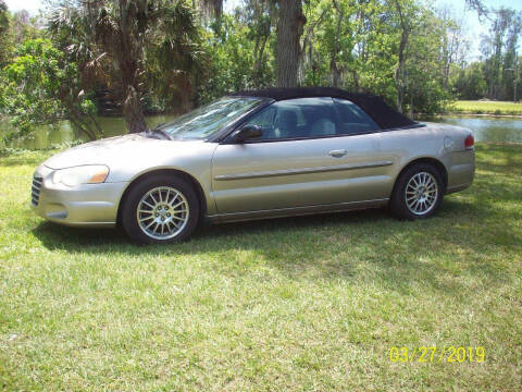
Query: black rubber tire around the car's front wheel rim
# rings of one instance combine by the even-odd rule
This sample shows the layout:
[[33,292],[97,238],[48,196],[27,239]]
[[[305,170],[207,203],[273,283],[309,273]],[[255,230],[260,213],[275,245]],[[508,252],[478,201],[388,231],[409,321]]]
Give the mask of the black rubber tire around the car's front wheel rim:
[[[150,211],[147,210],[146,215],[141,215],[138,212],[138,206],[144,206],[144,198],[146,195],[149,193],[152,193],[154,195],[156,192],[160,192],[160,196],[164,197],[165,199],[165,205],[166,200],[170,199],[170,197],[173,197],[173,200],[175,199],[174,194],[166,194],[166,188],[169,189],[174,189],[176,191],[179,195],[182,196],[176,196],[179,197],[179,199],[176,199],[182,203],[182,206],[178,208],[185,208],[186,212],[181,212],[179,217],[177,218],[177,212],[174,213],[174,209],[171,209],[170,211],[172,212],[172,218],[171,215],[169,215],[169,218],[161,216],[160,218],[158,217],[158,213],[154,213],[157,209],[150,208]],[[166,189],[166,191],[165,191]],[[149,196],[150,197],[150,196]],[[157,195],[158,198],[158,195]],[[151,201],[150,198],[145,199],[146,204],[147,200]],[[172,201],[172,203],[177,203],[177,201]],[[186,205],[188,205],[188,209],[186,209]],[[154,205],[156,206],[156,205]],[[157,207],[159,209],[169,209],[167,207],[160,206]],[[172,208],[172,206],[171,206]],[[163,213],[163,211],[160,211]],[[166,215],[166,212],[164,212]],[[140,181],[137,184],[132,185],[130,191],[127,193],[125,196],[125,199],[123,200],[123,206],[122,206],[122,225],[127,235],[139,243],[142,244],[170,244],[170,243],[175,243],[175,242],[181,242],[184,240],[187,240],[190,237],[192,232],[196,230],[198,223],[199,223],[199,218],[201,213],[201,208],[200,204],[198,200],[198,196],[194,189],[194,187],[184,179],[174,176],[174,175],[166,175],[166,174],[159,174],[159,175],[153,175],[150,179],[145,179]],[[176,215],[175,219],[183,219],[188,215],[188,217],[183,220],[183,223],[179,223],[179,229],[177,229],[176,225],[174,225],[173,222],[178,223],[179,221],[174,220],[174,216]],[[147,219],[150,219],[146,221],[145,223],[141,223],[138,221],[138,217],[149,217]],[[170,222],[165,222],[165,226],[169,228],[169,230],[172,230],[172,233],[165,234],[163,237],[163,229],[161,230],[161,237],[154,237],[153,235],[156,233],[152,233],[153,228],[158,228],[163,225],[163,223],[158,222],[158,225],[156,223],[152,224],[152,229],[147,230],[145,226],[149,224],[149,222],[157,221],[158,219],[167,219]],[[141,218],[144,220],[144,218]],[[169,223],[169,225],[166,225]],[[161,224],[161,225],[160,225]],[[176,228],[176,229],[173,229]],[[160,236],[160,233],[157,233],[158,236]],[[173,235],[173,236],[170,236]]]

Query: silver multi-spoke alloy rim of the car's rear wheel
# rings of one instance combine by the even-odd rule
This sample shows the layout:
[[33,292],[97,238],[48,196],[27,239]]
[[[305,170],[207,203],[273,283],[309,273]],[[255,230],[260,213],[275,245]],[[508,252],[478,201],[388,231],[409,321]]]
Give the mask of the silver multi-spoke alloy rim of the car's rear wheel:
[[405,193],[408,209],[417,216],[425,215],[437,203],[437,180],[428,172],[419,172],[408,181]]

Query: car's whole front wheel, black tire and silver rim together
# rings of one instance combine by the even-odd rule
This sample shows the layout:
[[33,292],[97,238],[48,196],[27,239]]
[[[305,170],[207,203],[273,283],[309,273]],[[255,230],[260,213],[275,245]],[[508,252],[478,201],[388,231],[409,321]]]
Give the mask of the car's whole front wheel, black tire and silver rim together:
[[122,225],[140,243],[186,240],[199,221],[196,192],[185,180],[157,175],[137,183],[125,197]]

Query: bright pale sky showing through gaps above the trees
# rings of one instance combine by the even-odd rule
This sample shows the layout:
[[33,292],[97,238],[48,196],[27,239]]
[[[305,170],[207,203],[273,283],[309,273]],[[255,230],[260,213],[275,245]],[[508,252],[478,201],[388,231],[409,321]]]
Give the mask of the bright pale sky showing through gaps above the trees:
[[[44,0],[4,0],[11,11],[27,10],[36,14],[44,8]],[[464,35],[471,42],[468,61],[478,60],[481,34],[487,33],[489,22],[485,19],[478,20],[475,11],[468,10],[465,0],[424,0],[437,8],[447,8],[457,19],[461,19],[464,25]],[[487,8],[499,9],[500,7],[512,8],[522,11],[522,0],[483,0]],[[234,9],[240,0],[225,0],[225,10]],[[522,45],[522,39],[521,39]],[[522,52],[522,50],[521,50]]]

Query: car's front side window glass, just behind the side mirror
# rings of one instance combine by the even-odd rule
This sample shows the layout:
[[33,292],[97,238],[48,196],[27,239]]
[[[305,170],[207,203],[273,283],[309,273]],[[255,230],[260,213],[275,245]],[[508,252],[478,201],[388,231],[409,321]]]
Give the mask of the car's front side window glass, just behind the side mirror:
[[261,139],[308,138],[337,135],[332,98],[299,98],[272,103],[247,124],[263,130]]

